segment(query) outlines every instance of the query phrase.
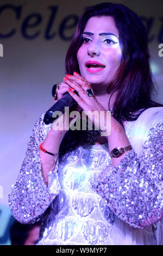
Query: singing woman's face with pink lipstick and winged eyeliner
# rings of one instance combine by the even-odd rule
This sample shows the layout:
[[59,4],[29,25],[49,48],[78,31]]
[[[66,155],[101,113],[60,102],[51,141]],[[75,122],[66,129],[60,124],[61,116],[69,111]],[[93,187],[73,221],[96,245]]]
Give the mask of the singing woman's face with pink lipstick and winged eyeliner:
[[81,75],[92,84],[106,88],[121,63],[119,33],[110,16],[91,17],[83,32],[83,44],[77,52]]

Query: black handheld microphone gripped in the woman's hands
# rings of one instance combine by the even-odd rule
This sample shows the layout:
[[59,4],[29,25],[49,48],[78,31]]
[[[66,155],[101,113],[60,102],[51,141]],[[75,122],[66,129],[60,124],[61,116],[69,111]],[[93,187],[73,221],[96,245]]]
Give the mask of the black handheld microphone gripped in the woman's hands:
[[45,113],[45,116],[43,118],[43,121],[45,124],[53,123],[53,121],[57,118],[53,118],[53,113],[55,111],[60,111],[62,114],[65,113],[65,107],[72,107],[77,102],[73,99],[73,97],[69,93],[65,93],[62,98],[55,103],[51,108],[48,109],[48,111]]

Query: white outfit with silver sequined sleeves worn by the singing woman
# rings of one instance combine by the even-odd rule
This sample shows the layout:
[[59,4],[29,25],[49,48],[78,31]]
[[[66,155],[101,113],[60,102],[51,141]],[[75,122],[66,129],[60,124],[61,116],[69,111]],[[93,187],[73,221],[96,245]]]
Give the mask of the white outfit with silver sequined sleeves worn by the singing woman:
[[36,121],[9,194],[17,221],[42,220],[37,245],[163,245],[163,108],[126,123],[133,149],[116,167],[107,144],[83,144],[60,157],[47,187],[39,145],[51,127]]

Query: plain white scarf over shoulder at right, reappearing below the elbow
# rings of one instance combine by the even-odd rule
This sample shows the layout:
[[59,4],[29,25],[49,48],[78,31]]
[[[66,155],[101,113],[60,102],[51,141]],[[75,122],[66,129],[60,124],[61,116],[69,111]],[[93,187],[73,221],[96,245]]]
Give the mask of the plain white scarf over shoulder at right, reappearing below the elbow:
[[[152,107],[143,111],[136,121],[128,121],[124,124],[126,134],[137,157],[140,156],[149,130],[161,121],[163,123],[163,107]],[[157,241],[154,239],[152,227],[148,229],[133,228],[116,217],[111,239],[114,245],[154,245],[155,243],[163,245],[163,220],[156,223],[156,228]]]

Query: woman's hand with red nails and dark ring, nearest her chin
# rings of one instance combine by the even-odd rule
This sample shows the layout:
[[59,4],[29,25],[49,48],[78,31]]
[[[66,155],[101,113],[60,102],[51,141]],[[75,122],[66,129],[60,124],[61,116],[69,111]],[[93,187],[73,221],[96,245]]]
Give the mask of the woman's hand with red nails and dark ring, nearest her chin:
[[[78,105],[83,109],[86,113],[87,117],[95,124],[95,126],[99,127],[99,114],[101,111],[106,113],[106,109],[101,105],[101,103],[96,99],[95,94],[93,93],[91,84],[87,82],[81,75],[66,75],[64,78],[64,82],[70,86],[68,89],[68,93],[73,97],[73,99],[78,103]],[[78,95],[74,93],[72,90],[76,90]],[[87,89],[91,89],[93,95],[89,96],[86,92]],[[96,111],[96,112],[95,112]],[[94,113],[93,113],[94,112]],[[95,117],[92,120],[92,113]],[[101,128],[101,127],[100,127]]]

